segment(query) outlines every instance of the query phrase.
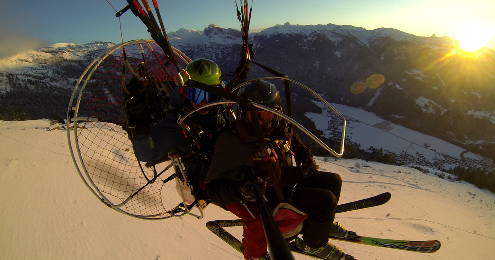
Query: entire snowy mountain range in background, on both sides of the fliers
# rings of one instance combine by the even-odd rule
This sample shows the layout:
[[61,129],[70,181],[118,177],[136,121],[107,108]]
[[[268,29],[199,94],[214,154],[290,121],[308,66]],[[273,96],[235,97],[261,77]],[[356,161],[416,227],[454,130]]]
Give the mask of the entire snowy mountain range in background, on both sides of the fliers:
[[[168,34],[171,44],[191,59],[215,60],[225,80],[238,65],[240,36],[238,30],[214,24],[204,31],[180,29]],[[327,101],[372,112],[389,123],[495,159],[495,51],[491,49],[466,55],[446,36],[418,37],[393,28],[334,24],[286,23],[251,34],[250,39],[256,54],[253,61],[308,85]],[[65,117],[72,87],[86,66],[114,45],[60,43],[0,58],[0,119],[12,119],[12,111],[24,119]],[[251,65],[249,78],[269,75]],[[381,76],[382,82],[368,84],[373,75]],[[311,111],[312,102],[306,102],[299,90],[293,91],[300,94],[293,106]]]

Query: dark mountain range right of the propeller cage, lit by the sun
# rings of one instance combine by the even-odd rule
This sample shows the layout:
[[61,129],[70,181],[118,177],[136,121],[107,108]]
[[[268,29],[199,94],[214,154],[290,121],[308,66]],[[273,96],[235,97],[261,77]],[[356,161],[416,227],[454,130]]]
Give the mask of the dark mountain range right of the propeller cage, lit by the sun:
[[[190,58],[234,71],[240,32],[210,25],[169,34]],[[252,34],[253,61],[321,93],[330,102],[495,159],[495,51],[467,53],[450,37],[419,37],[393,28],[276,25]],[[370,85],[372,76],[382,77]],[[271,76],[251,65],[250,78]],[[357,90],[357,91],[356,91]],[[477,127],[473,127],[477,126]],[[478,131],[483,129],[483,131]]]

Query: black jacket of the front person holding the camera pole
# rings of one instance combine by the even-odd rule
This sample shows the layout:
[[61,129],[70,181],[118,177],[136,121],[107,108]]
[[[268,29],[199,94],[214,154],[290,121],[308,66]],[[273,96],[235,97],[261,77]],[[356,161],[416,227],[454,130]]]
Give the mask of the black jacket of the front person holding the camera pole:
[[[284,197],[287,198],[295,183],[292,154],[295,155],[296,161],[302,161],[311,155],[311,150],[289,130],[284,120],[266,136],[268,138],[265,138],[265,142],[277,154],[278,162],[272,166],[277,169],[276,164],[279,164],[278,182],[282,184]],[[289,151],[283,147],[285,141],[290,143]],[[270,180],[265,163],[267,162],[261,158],[257,138],[250,134],[242,123],[232,123],[225,128],[215,143],[215,153],[205,180],[208,197],[219,205],[236,203],[242,200],[239,186],[254,176],[260,176],[268,182],[269,187],[265,195],[269,203],[278,202],[274,187],[270,187],[275,181]]]

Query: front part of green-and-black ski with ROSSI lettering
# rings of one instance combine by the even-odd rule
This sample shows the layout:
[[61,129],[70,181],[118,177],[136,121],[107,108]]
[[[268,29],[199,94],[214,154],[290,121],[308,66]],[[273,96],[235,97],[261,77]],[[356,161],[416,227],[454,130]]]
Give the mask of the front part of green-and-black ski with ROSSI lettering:
[[363,244],[363,245],[394,248],[394,249],[407,250],[407,251],[413,251],[419,253],[433,253],[433,252],[437,252],[440,249],[440,241],[438,240],[414,241],[414,240],[374,238],[374,237],[366,237],[366,236],[356,236],[353,238],[330,236],[329,238],[334,240]]

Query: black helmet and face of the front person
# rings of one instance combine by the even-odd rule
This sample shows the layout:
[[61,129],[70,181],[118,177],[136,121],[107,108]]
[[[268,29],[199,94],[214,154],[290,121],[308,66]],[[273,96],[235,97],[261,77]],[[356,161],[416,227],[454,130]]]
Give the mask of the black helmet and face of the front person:
[[[280,93],[274,84],[267,81],[256,80],[247,83],[241,91],[241,97],[253,103],[258,103],[265,107],[272,108],[276,111],[282,111]],[[252,123],[250,112],[248,110],[241,111],[240,114],[243,121]],[[256,115],[258,116],[261,128],[265,133],[276,127],[279,123],[280,117],[274,113],[264,110],[257,110]]]

